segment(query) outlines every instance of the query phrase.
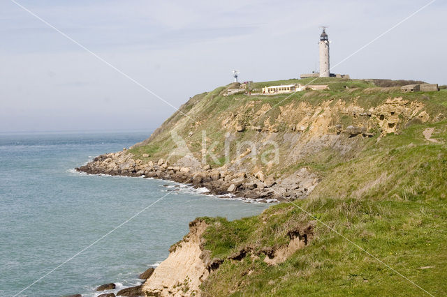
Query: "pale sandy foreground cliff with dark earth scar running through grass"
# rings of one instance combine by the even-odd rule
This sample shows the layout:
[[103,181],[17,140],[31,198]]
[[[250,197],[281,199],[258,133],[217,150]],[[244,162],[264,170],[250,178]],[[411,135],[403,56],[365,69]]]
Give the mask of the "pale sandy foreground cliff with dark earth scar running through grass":
[[[286,241],[282,245],[265,247],[259,244],[241,245],[227,257],[212,257],[205,249],[205,233],[220,226],[212,218],[198,218],[189,223],[189,233],[171,246],[169,256],[161,262],[152,275],[142,284],[144,296],[210,296],[201,290],[201,285],[219,267],[237,264],[249,257],[250,261],[263,259],[265,264],[275,266],[286,261],[297,250],[305,248],[314,236],[316,222],[310,221],[284,230]],[[256,260],[256,261],[257,261]]]

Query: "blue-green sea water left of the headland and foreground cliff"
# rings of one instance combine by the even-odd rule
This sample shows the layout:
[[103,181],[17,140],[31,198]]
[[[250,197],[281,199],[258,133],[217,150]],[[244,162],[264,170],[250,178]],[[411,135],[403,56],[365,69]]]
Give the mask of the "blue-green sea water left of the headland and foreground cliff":
[[233,220],[268,206],[169,181],[73,171],[148,135],[0,135],[0,296],[25,288],[18,296],[96,296],[100,284],[140,284],[138,274],[168,257],[194,218]]

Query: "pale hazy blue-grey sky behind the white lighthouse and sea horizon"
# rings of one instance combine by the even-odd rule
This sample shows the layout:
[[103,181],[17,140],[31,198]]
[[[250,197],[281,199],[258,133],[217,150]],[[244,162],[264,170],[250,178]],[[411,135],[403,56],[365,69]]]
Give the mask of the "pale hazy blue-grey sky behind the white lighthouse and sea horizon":
[[316,70],[318,26],[331,73],[447,84],[443,0],[14,1],[85,48],[0,1],[0,132],[151,131],[233,69]]

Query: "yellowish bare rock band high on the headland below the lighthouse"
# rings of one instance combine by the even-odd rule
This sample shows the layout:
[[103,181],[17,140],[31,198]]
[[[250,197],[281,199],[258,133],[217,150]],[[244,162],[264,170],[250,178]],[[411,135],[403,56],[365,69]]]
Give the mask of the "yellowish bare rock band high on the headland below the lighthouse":
[[[241,132],[243,127],[244,130],[275,133],[279,132],[281,125],[286,125],[288,130],[305,132],[301,139],[305,143],[337,131],[371,135],[379,129],[381,135],[386,135],[397,132],[398,125],[415,117],[422,122],[430,119],[430,115],[423,111],[423,102],[410,102],[402,97],[390,97],[383,104],[369,108],[358,105],[356,98],[350,103],[342,99],[321,100],[317,105],[306,101],[291,102],[277,107],[279,113],[274,116],[265,117],[272,107],[275,106],[261,100],[247,102],[238,114],[223,113],[221,128],[228,132]],[[257,125],[260,119],[262,124]],[[346,119],[350,119],[351,125],[346,124]]]

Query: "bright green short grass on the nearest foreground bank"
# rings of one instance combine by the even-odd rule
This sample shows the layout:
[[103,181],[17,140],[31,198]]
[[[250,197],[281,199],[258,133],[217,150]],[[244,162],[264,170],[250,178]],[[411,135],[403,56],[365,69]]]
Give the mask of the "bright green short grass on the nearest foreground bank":
[[[203,284],[203,295],[424,295],[374,257],[431,294],[443,296],[446,293],[447,208],[444,203],[377,201],[373,204],[368,199],[320,199],[296,203],[355,245],[318,223],[309,245],[282,264],[268,266],[263,257],[252,259],[250,255],[242,261],[224,261]],[[277,214],[270,217],[272,213]],[[266,222],[260,223],[261,218]],[[210,227],[205,234],[205,248],[217,251],[215,256],[223,257],[244,245],[261,248],[284,244],[287,238],[281,226],[290,222],[304,224],[314,219],[290,204],[272,206],[258,217]],[[247,222],[249,226],[245,227]],[[429,268],[421,269],[427,266]]]

